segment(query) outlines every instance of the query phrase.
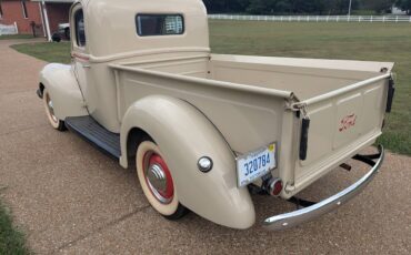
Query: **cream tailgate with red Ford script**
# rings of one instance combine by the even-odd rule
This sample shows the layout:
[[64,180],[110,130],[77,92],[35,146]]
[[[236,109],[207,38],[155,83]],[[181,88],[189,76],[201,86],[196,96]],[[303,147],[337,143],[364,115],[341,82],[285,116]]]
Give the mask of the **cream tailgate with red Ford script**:
[[[381,134],[390,86],[393,82],[387,73],[298,103],[304,106],[293,193],[374,143]],[[308,126],[304,119],[309,119]]]

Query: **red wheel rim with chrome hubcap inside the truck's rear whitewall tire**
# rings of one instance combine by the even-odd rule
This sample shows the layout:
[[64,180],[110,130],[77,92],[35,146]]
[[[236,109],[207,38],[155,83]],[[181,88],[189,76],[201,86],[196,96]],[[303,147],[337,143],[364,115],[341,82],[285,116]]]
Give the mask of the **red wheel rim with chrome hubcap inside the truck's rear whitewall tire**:
[[151,194],[161,204],[171,203],[174,196],[174,186],[164,160],[154,152],[148,152],[144,155],[143,165],[144,180]]

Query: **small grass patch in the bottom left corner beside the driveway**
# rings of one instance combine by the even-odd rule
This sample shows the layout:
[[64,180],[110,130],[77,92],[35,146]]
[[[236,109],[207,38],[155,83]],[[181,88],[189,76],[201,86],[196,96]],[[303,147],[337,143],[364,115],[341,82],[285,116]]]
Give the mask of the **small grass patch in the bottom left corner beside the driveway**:
[[0,201],[0,254],[29,254],[24,245],[24,236],[17,231],[11,216]]

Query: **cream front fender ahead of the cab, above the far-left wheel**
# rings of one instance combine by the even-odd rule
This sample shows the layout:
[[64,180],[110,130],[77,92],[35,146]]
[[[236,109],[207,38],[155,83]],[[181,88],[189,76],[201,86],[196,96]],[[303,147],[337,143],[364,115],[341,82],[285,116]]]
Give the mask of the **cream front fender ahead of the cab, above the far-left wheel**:
[[40,90],[43,85],[50,93],[54,115],[58,119],[88,115],[84,100],[70,65],[48,64],[41,70],[39,80]]

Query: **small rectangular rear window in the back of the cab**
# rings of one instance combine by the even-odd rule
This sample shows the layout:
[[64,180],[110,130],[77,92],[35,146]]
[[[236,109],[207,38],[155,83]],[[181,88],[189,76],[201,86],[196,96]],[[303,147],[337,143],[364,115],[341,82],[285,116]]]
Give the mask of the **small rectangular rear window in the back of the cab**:
[[137,14],[136,27],[140,37],[182,34],[184,19],[181,14]]

